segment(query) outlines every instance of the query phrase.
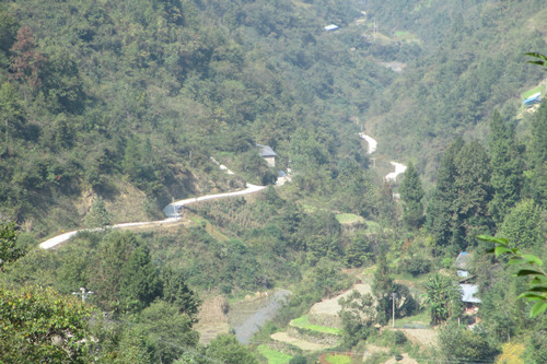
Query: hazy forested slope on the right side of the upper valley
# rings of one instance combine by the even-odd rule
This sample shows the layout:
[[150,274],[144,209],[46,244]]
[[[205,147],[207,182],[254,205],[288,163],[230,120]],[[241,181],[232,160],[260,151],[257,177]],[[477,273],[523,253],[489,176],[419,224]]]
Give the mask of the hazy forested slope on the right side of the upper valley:
[[[370,108],[368,120],[392,153],[414,155],[428,175],[454,138],[482,139],[492,110],[511,118],[521,94],[545,74],[526,63],[542,51],[544,1],[369,1],[383,32],[411,32],[422,54]],[[543,14],[543,15],[542,15]],[[526,89],[527,87],[527,89]],[[385,145],[385,143],[384,143]],[[380,150],[382,152],[382,150]]]

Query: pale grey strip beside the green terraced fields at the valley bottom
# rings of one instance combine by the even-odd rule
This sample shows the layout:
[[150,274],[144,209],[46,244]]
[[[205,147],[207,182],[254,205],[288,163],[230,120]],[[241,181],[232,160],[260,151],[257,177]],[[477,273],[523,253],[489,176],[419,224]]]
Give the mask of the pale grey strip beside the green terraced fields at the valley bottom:
[[257,332],[266,321],[274,318],[277,312],[287,302],[287,297],[290,294],[290,291],[279,290],[274,292],[271,296],[264,298],[260,305],[254,309],[246,310],[244,307],[234,307],[234,314],[237,314],[237,319],[233,319],[233,322],[230,324],[232,324],[234,328],[237,340],[244,344],[248,343],[251,337]]

